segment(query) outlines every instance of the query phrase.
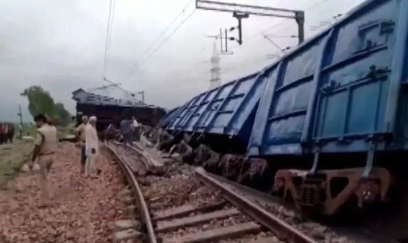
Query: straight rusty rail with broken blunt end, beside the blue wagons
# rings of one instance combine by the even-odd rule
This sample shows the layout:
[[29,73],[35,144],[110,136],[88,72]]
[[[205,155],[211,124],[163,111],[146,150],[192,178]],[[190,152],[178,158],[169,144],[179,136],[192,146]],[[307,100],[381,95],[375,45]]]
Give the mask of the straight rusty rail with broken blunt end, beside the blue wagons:
[[194,171],[195,177],[201,182],[217,188],[221,191],[221,196],[234,204],[236,207],[242,209],[245,213],[251,215],[256,221],[267,227],[269,230],[275,233],[281,241],[288,243],[317,243],[314,239],[293,228],[288,223],[279,219],[272,213],[269,213],[265,209],[259,207],[250,200],[237,194],[230,188],[224,186],[222,182],[214,179],[203,168],[196,168]]

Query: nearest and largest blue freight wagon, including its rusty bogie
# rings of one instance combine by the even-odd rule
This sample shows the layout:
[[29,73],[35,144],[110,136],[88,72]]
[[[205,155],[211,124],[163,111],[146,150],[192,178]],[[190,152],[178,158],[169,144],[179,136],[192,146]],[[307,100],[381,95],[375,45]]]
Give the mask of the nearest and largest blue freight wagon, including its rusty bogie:
[[368,0],[267,68],[247,155],[278,168],[275,192],[326,214],[389,200],[408,145],[407,34],[407,0]]

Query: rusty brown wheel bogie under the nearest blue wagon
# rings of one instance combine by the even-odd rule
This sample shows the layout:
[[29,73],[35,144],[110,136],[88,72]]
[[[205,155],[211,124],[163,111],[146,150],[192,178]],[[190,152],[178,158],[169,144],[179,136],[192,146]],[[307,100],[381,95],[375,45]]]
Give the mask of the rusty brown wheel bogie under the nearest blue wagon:
[[[373,167],[368,176],[367,182],[361,180],[365,168],[346,168],[338,170],[319,170],[318,175],[324,176],[316,177],[315,179],[308,176],[306,170],[292,170],[284,169],[278,170],[275,175],[275,184],[280,184],[276,189],[286,188],[283,191],[282,198],[286,197],[286,194],[290,192],[293,197],[293,201],[298,209],[302,206],[314,207],[315,205],[322,204],[322,213],[332,215],[338,213],[340,208],[345,202],[355,195],[358,199],[358,206],[363,207],[363,203],[369,204],[366,200],[367,193],[369,195],[376,195],[382,202],[386,202],[387,192],[389,191],[392,182],[395,178],[391,176],[391,173],[382,167]],[[296,186],[295,179],[302,179],[302,183]],[[333,184],[333,179],[344,178],[347,179],[347,184],[337,193],[331,191],[331,187],[326,185]],[[277,183],[277,182],[283,182]],[[302,192],[306,192],[302,194]],[[316,195],[319,193],[325,193],[325,199],[322,200]]]

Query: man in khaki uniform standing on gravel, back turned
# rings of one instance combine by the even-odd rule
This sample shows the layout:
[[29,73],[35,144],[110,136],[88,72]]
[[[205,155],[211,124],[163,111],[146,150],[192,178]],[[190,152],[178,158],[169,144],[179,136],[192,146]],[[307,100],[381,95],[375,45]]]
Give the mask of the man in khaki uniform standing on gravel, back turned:
[[32,170],[33,163],[38,158],[38,165],[40,166],[40,187],[41,187],[41,205],[44,207],[48,205],[50,199],[48,192],[47,177],[54,162],[54,153],[57,150],[57,130],[47,124],[47,119],[43,114],[34,117],[37,125],[37,136],[34,141],[34,148],[32,150],[31,162],[28,164]]

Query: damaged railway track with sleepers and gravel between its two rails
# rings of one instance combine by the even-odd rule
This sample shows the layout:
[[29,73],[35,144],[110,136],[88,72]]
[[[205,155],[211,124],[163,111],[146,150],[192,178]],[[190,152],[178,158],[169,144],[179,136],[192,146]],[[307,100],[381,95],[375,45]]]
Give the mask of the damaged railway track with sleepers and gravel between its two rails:
[[107,147],[127,168],[126,177],[137,184],[132,187],[140,189],[135,200],[151,243],[360,242],[305,221],[269,196],[202,168],[159,159],[142,146]]

